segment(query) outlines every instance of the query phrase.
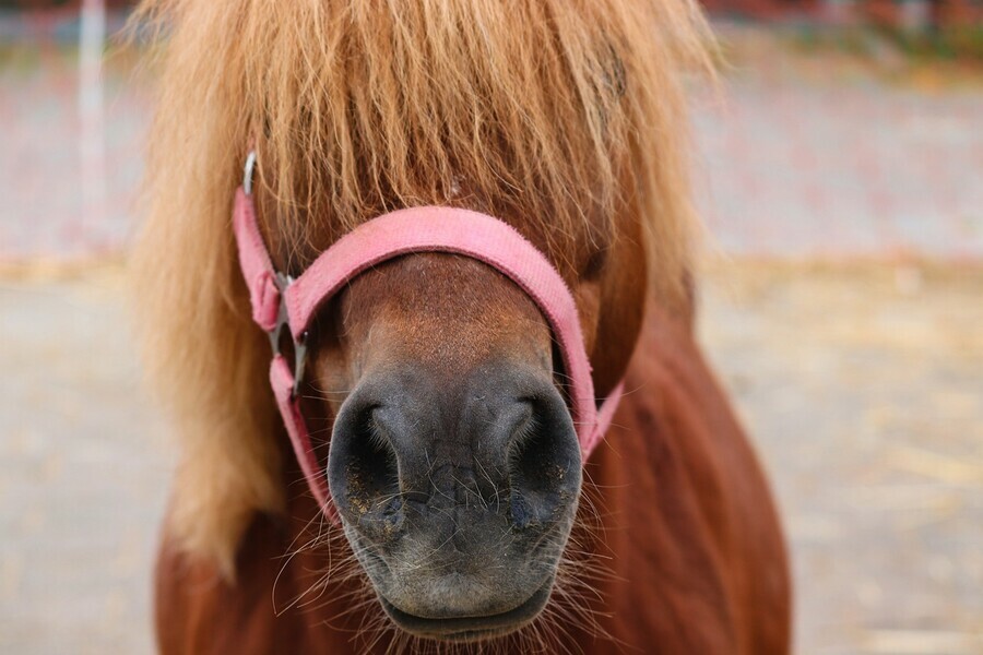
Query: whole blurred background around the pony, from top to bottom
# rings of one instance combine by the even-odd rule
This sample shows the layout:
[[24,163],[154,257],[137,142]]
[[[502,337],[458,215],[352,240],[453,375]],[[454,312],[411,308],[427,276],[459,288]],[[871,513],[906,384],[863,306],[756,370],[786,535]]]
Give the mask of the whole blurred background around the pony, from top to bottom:
[[[106,4],[0,0],[2,653],[152,650],[173,455],[122,297],[152,80]],[[706,7],[700,331],[784,517],[796,652],[979,655],[983,0]]]

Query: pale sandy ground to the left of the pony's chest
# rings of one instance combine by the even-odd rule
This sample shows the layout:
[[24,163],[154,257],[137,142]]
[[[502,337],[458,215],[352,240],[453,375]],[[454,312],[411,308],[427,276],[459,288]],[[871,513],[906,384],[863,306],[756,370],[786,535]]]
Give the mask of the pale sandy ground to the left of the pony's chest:
[[121,279],[0,279],[0,653],[152,652],[170,460]]

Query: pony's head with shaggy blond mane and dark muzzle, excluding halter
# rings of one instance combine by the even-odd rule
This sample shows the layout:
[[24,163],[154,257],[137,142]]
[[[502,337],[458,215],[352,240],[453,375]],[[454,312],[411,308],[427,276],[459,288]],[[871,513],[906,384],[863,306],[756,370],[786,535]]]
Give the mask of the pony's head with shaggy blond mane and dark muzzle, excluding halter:
[[[170,531],[229,577],[253,513],[296,489],[228,221],[247,143],[263,241],[292,276],[401,207],[511,225],[569,288],[599,398],[647,298],[686,306],[679,71],[706,57],[685,0],[142,12],[169,40],[134,262],[149,370],[182,444]],[[311,324],[298,393],[319,467],[408,632],[509,632],[550,596],[582,483],[554,336],[512,279],[437,252],[360,273]]]

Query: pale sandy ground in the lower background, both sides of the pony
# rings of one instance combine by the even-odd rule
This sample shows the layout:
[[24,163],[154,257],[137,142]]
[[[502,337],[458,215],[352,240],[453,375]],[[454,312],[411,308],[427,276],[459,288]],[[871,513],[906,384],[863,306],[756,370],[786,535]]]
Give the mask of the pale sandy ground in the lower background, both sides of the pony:
[[[716,263],[702,289],[784,516],[797,652],[983,652],[983,271]],[[0,652],[147,653],[173,457],[122,275],[0,278]]]

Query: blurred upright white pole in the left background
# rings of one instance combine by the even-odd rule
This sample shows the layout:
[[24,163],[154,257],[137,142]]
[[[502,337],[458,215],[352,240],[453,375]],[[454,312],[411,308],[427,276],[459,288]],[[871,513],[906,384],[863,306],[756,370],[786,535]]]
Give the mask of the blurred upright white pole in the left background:
[[103,115],[103,46],[106,43],[105,0],[82,0],[79,36],[79,140],[82,183],[82,237],[105,221],[106,140]]

